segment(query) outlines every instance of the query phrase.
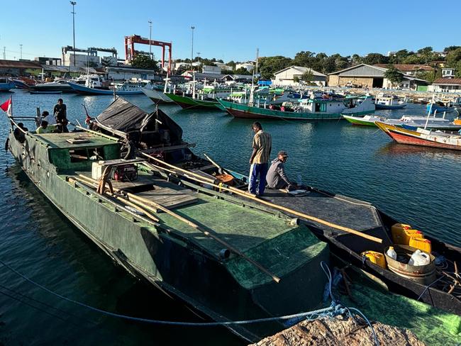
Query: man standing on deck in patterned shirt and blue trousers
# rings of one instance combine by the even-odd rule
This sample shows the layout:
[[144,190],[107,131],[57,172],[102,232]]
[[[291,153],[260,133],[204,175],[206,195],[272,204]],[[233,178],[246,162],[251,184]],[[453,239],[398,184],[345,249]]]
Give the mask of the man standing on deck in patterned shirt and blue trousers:
[[[253,152],[250,157],[248,191],[251,194],[262,196],[266,187],[267,162],[269,162],[270,150],[272,149],[272,138],[269,133],[262,130],[261,124],[257,121],[253,123],[252,130],[255,131],[255,137],[253,138]],[[258,177],[260,178],[259,184],[256,182]]]

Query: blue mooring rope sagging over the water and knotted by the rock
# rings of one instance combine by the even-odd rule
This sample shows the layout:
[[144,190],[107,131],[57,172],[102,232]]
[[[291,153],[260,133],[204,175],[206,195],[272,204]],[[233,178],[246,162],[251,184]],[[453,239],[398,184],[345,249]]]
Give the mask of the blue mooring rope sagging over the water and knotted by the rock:
[[[356,308],[348,308],[340,305],[339,303],[336,303],[336,299],[333,296],[333,293],[331,292],[331,281],[332,281],[332,276],[331,276],[331,271],[330,268],[328,267],[328,264],[326,262],[321,262],[321,267],[323,269],[323,272],[325,272],[326,276],[328,277],[328,291],[331,296],[332,302],[331,306],[328,306],[328,308],[321,308],[318,310],[314,311],[308,311],[304,313],[294,313],[291,315],[284,315],[284,316],[275,316],[275,317],[269,317],[269,318],[257,318],[254,320],[232,320],[232,321],[222,321],[222,322],[179,322],[179,321],[172,321],[172,320],[152,320],[149,318],[139,318],[139,317],[133,317],[133,316],[127,316],[127,315],[122,315],[120,313],[112,313],[110,311],[105,311],[101,308],[96,308],[94,306],[89,306],[85,303],[82,303],[80,301],[75,301],[72,298],[67,298],[66,296],[62,296],[62,294],[58,294],[55,291],[52,291],[45,286],[38,284],[38,282],[33,281],[32,279],[26,277],[26,275],[22,274],[21,272],[18,272],[16,269],[11,267],[9,264],[6,264],[4,261],[0,259],[0,264],[2,264],[4,267],[8,268],[11,270],[11,272],[15,273],[19,277],[22,277],[24,280],[30,282],[30,284],[33,284],[34,286],[39,287],[40,289],[43,289],[44,291],[47,291],[49,294],[52,294],[53,296],[57,296],[58,298],[61,298],[62,300],[68,301],[70,303],[74,303],[75,305],[82,306],[83,308],[87,308],[91,311],[96,311],[98,313],[102,313],[107,316],[112,316],[116,318],[123,318],[126,320],[133,320],[137,322],[143,322],[143,323],[152,323],[152,324],[158,324],[158,325],[180,325],[180,326],[189,326],[189,327],[213,327],[213,326],[220,326],[220,325],[245,325],[245,324],[252,324],[252,323],[263,323],[263,322],[273,322],[273,321],[281,321],[281,320],[292,320],[296,318],[306,318],[307,320],[314,320],[319,317],[330,317],[333,318],[335,316],[343,315],[346,311],[348,311],[348,316],[353,318],[352,313],[350,311],[357,311],[357,313],[364,318],[364,320],[367,322],[367,324],[370,326],[372,330],[372,335],[374,337],[374,342],[377,346],[379,346],[379,341],[377,339],[376,333],[374,333],[374,328],[370,321],[365,317],[365,315],[359,311]],[[13,298],[13,297],[12,297]],[[313,316],[316,316],[315,318],[312,318]]]

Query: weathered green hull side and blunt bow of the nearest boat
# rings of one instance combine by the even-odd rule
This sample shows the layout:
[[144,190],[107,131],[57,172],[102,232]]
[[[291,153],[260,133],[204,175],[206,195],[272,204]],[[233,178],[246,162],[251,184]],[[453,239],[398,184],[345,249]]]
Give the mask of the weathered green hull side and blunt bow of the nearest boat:
[[[26,135],[26,143],[21,145],[10,131],[9,150],[45,197],[115,262],[213,320],[267,318],[313,310],[321,304],[326,278],[320,263],[328,262],[326,243],[316,240],[320,245],[316,245],[315,255],[309,261],[304,259],[306,252],[300,252],[297,260],[294,257],[290,262],[294,269],[281,276],[279,283],[265,277],[265,281],[250,287],[238,279],[238,273],[255,268],[240,257],[224,261],[180,231],[146,223],[133,213],[127,215],[126,209],[111,203],[110,197],[68,182],[46,160],[35,164],[35,157],[46,157],[48,148],[33,136]],[[310,232],[297,234],[314,237]],[[280,240],[277,246],[288,240]],[[261,246],[267,246],[267,242]],[[272,249],[267,250],[272,254],[267,258],[273,261]],[[284,325],[271,322],[227,327],[245,340],[255,342],[282,330]]]

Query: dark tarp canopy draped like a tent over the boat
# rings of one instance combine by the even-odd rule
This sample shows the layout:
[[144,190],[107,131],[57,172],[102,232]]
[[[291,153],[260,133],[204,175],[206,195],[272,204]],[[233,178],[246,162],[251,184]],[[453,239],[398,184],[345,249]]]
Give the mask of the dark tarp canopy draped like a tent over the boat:
[[[157,128],[155,128],[155,123],[157,123],[155,119],[160,121]],[[118,97],[105,111],[99,114],[96,117],[96,121],[106,128],[130,134],[140,133],[140,135],[143,135],[143,133],[152,133],[158,130],[160,138],[152,135],[143,135],[146,139],[150,139],[149,142],[152,142],[152,140],[157,142],[157,139],[165,140],[165,138],[169,138],[169,142],[172,145],[182,143],[182,128],[167,114],[160,109],[152,113],[146,113],[141,108],[121,97]],[[152,145],[155,143],[149,144]]]

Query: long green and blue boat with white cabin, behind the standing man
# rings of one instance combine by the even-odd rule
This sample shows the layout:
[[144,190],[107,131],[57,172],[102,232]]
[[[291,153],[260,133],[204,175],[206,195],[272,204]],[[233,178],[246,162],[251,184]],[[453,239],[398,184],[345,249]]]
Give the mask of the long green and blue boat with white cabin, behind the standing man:
[[[357,100],[360,100],[357,102]],[[258,100],[255,106],[218,100],[223,108],[235,118],[263,118],[285,120],[338,120],[343,114],[363,115],[374,112],[371,98],[362,99],[301,99],[297,104],[284,105],[284,109],[275,109],[270,103]],[[354,103],[355,102],[355,103]]]

